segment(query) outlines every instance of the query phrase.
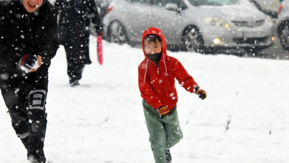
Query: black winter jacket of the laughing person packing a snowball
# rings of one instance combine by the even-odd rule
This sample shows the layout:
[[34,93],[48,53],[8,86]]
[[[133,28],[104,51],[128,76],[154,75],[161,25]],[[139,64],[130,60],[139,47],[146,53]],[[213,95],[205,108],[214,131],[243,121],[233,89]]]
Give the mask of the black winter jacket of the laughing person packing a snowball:
[[0,1],[0,69],[23,74],[17,62],[25,54],[42,56],[36,72],[49,68],[59,48],[57,15],[49,1],[34,13],[25,10],[20,0]]

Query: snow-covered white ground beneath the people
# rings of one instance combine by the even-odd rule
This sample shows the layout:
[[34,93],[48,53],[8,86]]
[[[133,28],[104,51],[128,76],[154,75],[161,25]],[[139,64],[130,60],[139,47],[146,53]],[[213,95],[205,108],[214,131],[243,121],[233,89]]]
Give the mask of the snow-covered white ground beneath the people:
[[[53,163],[153,163],[137,67],[142,50],[103,41],[82,86],[68,86],[60,47],[49,70],[47,159]],[[168,52],[207,91],[200,100],[177,85],[184,139],[174,163],[277,163],[289,160],[289,62],[227,55]],[[0,163],[27,163],[0,99]],[[227,123],[230,121],[228,129]],[[269,134],[271,133],[271,134]]]

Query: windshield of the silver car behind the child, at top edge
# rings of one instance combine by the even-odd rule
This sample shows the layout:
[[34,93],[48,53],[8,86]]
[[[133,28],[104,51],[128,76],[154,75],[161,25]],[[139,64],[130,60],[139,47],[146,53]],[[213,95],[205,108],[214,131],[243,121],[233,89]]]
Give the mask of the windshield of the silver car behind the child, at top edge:
[[188,0],[194,6],[237,5],[239,0]]

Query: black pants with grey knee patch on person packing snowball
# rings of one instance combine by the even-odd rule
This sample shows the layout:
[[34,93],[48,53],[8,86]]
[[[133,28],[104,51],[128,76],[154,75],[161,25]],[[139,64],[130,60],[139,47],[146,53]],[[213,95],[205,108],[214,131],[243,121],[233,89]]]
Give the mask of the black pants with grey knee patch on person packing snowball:
[[[45,112],[48,71],[33,72],[24,78],[0,69],[1,94],[12,120],[12,127],[28,154],[44,156]],[[40,157],[40,156],[39,156]]]

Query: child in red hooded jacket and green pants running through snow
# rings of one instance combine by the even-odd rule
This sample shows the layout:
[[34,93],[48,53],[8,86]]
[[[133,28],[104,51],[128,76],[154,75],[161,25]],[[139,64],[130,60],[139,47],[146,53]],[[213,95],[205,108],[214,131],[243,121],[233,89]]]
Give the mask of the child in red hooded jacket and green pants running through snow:
[[138,66],[138,86],[143,98],[144,116],[155,163],[171,163],[169,149],[183,133],[176,110],[178,101],[175,78],[187,91],[207,97],[181,63],[166,54],[164,34],[158,28],[148,28],[142,34],[145,59]]

